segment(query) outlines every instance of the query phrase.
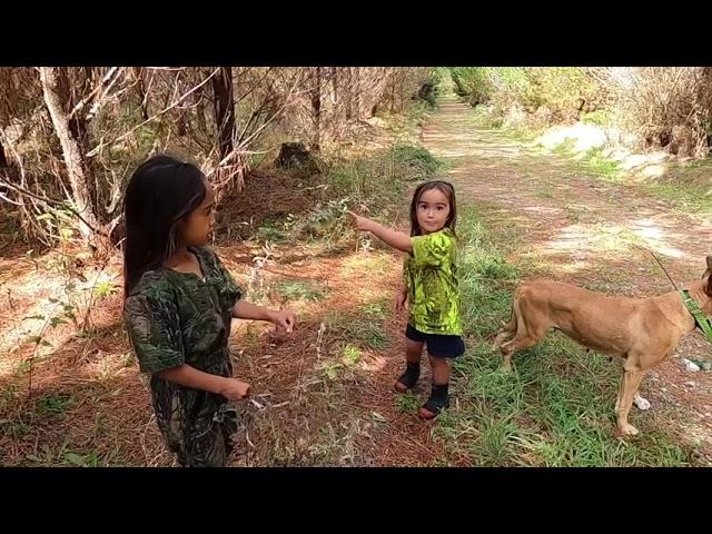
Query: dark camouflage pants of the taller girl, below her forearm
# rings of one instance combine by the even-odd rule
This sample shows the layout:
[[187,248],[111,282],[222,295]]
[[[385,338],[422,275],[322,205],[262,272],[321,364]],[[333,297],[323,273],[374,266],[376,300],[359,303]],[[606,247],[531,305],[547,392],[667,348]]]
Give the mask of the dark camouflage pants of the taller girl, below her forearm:
[[238,414],[221,395],[151,380],[156,421],[184,467],[224,467],[233,452]]

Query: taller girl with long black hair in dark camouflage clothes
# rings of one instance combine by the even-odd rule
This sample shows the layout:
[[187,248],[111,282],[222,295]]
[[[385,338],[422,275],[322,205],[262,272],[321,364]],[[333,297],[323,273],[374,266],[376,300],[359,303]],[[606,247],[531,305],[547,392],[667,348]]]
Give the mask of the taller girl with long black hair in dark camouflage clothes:
[[202,172],[169,156],[145,161],[125,199],[125,320],[156,419],[184,466],[224,466],[237,416],[228,402],[249,385],[233,378],[234,317],[268,320],[291,333],[290,310],[243,300],[243,290],[206,247],[215,196]]

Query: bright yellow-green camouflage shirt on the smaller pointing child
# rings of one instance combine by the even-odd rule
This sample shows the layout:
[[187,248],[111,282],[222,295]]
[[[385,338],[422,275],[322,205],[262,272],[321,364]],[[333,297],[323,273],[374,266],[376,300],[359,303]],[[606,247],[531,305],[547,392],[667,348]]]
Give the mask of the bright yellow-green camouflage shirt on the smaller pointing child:
[[403,267],[408,323],[423,334],[462,335],[457,241],[449,228],[412,238]]

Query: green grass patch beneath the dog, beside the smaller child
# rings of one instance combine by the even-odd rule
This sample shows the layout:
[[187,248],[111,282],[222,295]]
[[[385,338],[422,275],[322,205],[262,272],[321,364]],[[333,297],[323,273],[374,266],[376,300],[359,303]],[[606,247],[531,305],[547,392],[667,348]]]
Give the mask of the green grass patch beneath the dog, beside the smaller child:
[[[452,454],[474,465],[680,466],[691,451],[674,436],[647,427],[632,413],[642,436],[615,435],[614,403],[620,368],[587,355],[561,334],[514,357],[515,370],[484,339],[508,319],[512,281],[518,271],[488,240],[491,234],[468,206],[461,209],[462,297],[467,352],[453,367],[459,407],[439,418],[436,435]],[[402,400],[407,403],[407,400]]]

